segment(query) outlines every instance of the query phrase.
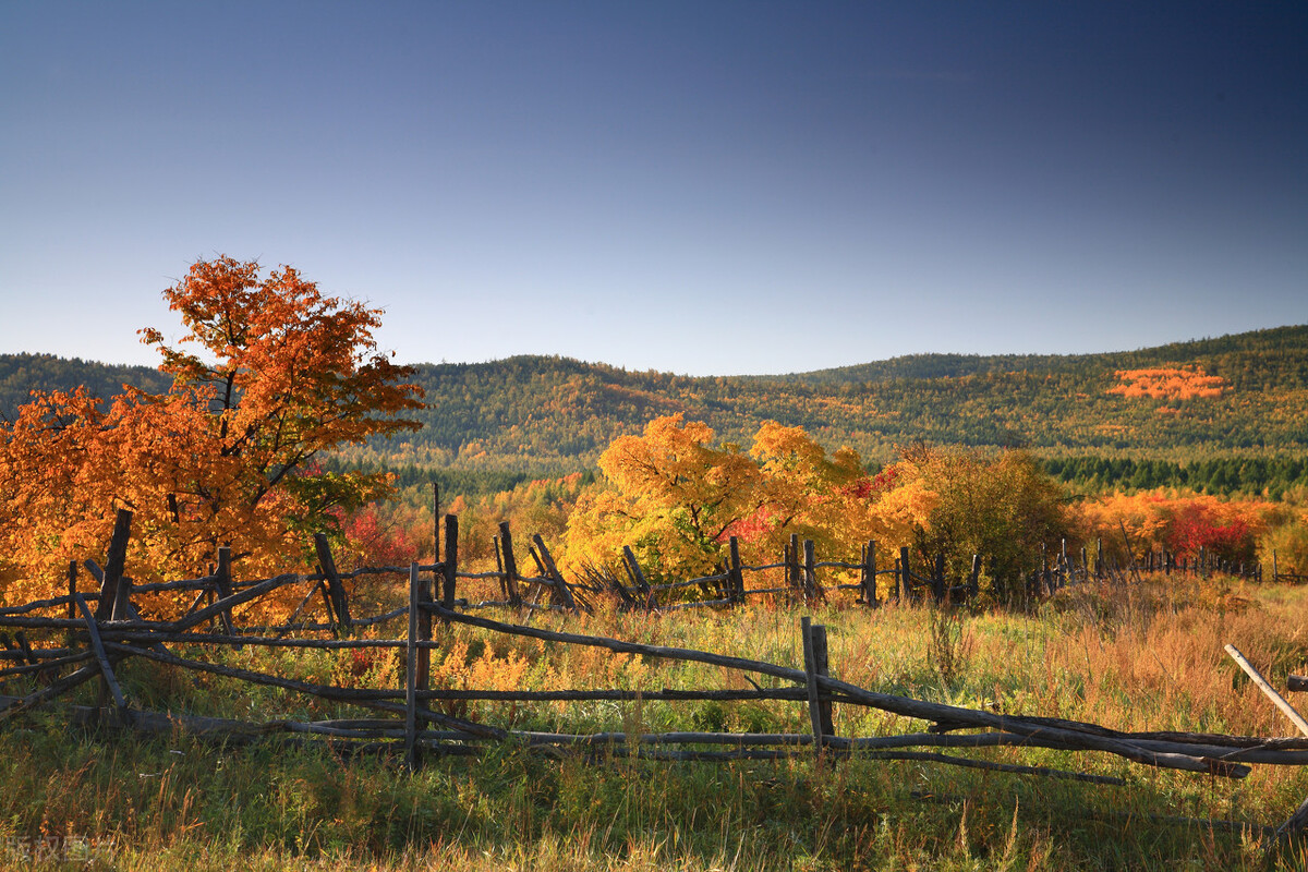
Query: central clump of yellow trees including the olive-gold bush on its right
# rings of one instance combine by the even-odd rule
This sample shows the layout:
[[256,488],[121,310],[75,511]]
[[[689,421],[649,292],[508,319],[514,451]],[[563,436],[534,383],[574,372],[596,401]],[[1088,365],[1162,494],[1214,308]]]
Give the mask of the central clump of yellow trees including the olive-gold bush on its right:
[[599,463],[604,486],[582,494],[568,526],[574,565],[615,566],[629,545],[650,574],[687,578],[715,571],[730,536],[747,563],[770,563],[797,535],[827,560],[857,560],[874,541],[887,561],[906,546],[965,573],[981,553],[986,584],[1007,595],[1067,528],[1062,492],[1022,452],[916,446],[870,475],[857,452],[828,455],[803,428],[765,422],[746,452],[671,416]]

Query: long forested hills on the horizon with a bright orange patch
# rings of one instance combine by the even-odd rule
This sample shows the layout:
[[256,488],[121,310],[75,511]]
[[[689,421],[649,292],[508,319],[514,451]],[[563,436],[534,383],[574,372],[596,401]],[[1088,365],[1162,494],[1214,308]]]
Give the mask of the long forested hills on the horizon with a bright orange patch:
[[[82,375],[78,375],[81,373]],[[26,387],[98,392],[160,379],[46,356],[0,357],[0,411]],[[816,373],[692,378],[560,357],[419,367],[422,430],[339,458],[477,473],[566,473],[658,416],[683,413],[748,443],[766,420],[802,425],[867,463],[895,447],[1025,446],[1071,481],[1261,490],[1308,482],[1308,327],[1135,352],[901,357]],[[1207,467],[1198,467],[1199,461]]]

